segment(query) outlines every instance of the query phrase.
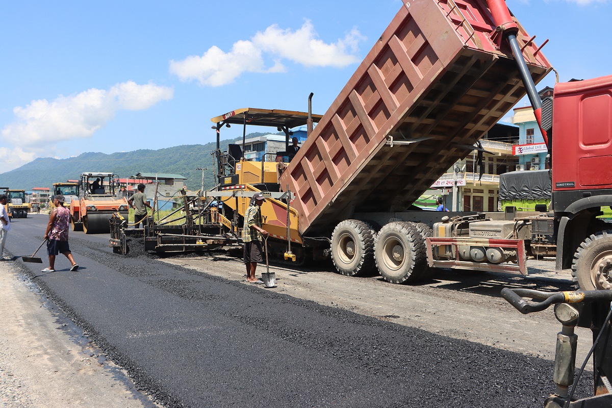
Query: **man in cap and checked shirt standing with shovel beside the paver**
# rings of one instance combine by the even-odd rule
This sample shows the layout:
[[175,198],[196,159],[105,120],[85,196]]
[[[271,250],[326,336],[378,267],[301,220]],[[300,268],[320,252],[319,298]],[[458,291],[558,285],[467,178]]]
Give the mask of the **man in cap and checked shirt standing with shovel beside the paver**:
[[242,227],[242,241],[244,242],[244,263],[247,265],[247,282],[263,283],[255,278],[257,262],[262,262],[263,237],[268,232],[261,224],[261,204],[266,198],[261,193],[255,193],[244,215],[244,226]]

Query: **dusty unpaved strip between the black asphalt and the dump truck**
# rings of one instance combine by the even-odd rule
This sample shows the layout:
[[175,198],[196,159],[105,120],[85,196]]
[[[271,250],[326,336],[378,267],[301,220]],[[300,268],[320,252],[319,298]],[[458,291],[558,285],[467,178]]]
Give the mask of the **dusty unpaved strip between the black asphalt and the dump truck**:
[[[195,258],[160,258],[171,264],[245,281],[244,264],[225,254]],[[436,270],[433,279],[416,285],[390,284],[380,276],[357,278],[331,272],[330,264],[316,269],[271,266],[276,291],[340,307],[401,325],[418,327],[457,339],[467,339],[514,352],[554,360],[556,335],[561,324],[552,308],[523,315],[499,296],[503,287],[529,287],[547,291],[572,290],[569,271],[555,273],[554,262],[529,261],[530,277],[504,273],[455,273]],[[257,276],[266,265],[258,265]],[[245,283],[248,284],[248,283]],[[259,285],[263,286],[263,285]],[[577,328],[577,365],[591,347],[591,332]],[[588,365],[589,369],[592,366]]]

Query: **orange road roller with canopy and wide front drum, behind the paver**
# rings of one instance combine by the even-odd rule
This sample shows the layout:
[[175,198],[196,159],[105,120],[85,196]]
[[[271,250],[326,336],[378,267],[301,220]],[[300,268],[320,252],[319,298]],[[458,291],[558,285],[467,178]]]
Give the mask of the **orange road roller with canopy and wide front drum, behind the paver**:
[[108,234],[109,219],[121,213],[127,219],[129,206],[118,197],[118,180],[111,172],[83,172],[78,181],[78,200],[70,201],[72,231],[85,234]]

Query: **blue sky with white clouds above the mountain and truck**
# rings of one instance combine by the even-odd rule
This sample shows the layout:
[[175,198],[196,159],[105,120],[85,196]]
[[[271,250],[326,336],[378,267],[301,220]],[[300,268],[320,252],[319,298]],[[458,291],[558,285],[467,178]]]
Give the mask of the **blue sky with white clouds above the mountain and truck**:
[[[536,43],[550,39],[543,53],[561,81],[612,74],[612,0],[507,4]],[[36,157],[208,143],[211,117],[305,111],[310,92],[323,114],[401,6],[4,1],[0,172]],[[553,85],[550,74],[538,87]]]

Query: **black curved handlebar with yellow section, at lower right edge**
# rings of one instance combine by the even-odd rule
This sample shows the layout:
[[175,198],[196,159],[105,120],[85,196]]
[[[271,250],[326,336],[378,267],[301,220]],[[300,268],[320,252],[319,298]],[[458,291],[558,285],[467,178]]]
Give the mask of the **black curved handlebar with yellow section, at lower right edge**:
[[[514,306],[523,314],[539,312],[553,305],[553,303],[580,303],[580,302],[611,302],[612,291],[567,291],[567,292],[542,292],[534,289],[510,289],[504,287],[501,295],[510,305]],[[543,302],[528,302],[523,299],[543,300]]]

